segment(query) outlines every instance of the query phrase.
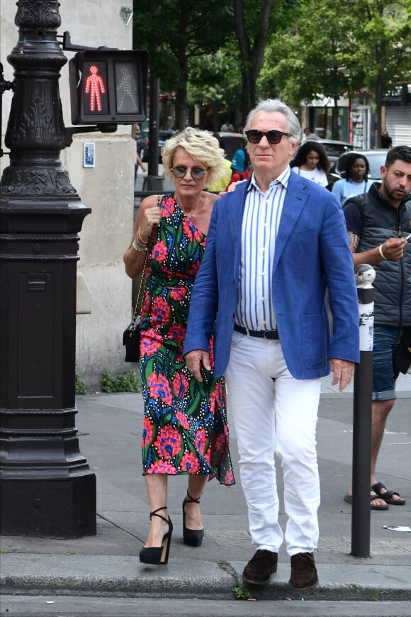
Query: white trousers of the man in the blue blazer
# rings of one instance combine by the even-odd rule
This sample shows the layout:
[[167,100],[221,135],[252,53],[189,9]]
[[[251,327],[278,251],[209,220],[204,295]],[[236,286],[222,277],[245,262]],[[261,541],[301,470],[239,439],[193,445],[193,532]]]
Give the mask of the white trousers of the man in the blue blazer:
[[[315,551],[320,506],[315,429],[321,380],[295,379],[277,340],[237,332],[225,379],[252,544],[278,552],[285,537],[290,556]],[[278,524],[274,453],[283,469],[285,536]]]

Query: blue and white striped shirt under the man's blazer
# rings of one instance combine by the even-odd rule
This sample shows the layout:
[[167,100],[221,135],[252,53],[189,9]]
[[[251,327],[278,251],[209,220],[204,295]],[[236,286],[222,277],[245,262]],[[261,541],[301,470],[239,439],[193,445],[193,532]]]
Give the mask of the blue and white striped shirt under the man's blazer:
[[274,251],[291,168],[263,193],[252,176],[242,218],[240,289],[235,322],[249,330],[275,330],[272,299]]

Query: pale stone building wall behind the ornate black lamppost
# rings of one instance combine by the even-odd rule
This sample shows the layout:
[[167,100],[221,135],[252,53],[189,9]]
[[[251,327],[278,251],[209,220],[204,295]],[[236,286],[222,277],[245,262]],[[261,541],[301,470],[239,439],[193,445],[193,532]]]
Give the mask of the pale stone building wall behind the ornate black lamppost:
[[[76,45],[132,49],[133,19],[128,17],[133,3],[129,7],[124,4],[123,0],[61,0],[62,24],[57,35],[68,30]],[[13,68],[7,55],[18,40],[15,16],[16,4],[3,2],[0,57],[4,79],[9,82],[13,81]],[[69,60],[74,52],[64,51],[64,55]],[[68,62],[62,67],[59,87],[64,125],[69,127]],[[12,92],[6,91],[1,122],[3,148],[11,99]],[[98,390],[103,372],[120,374],[129,369],[124,362],[123,330],[131,316],[132,282],[125,275],[123,252],[133,233],[135,143],[131,127],[118,126],[116,133],[109,135],[74,135],[60,159],[81,201],[91,207],[79,242],[76,372],[89,390]],[[8,165],[9,157],[4,155],[0,172]]]

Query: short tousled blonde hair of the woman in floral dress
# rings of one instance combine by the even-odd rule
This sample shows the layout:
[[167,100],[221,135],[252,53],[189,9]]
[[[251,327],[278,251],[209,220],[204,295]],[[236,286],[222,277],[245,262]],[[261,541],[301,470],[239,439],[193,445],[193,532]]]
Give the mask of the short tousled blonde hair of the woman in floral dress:
[[171,182],[174,176],[171,173],[173,159],[177,148],[184,148],[189,155],[204,165],[208,170],[208,184],[214,182],[222,173],[224,150],[220,148],[218,139],[208,130],[201,130],[188,126],[180,133],[167,139],[164,144],[162,157],[164,172]]

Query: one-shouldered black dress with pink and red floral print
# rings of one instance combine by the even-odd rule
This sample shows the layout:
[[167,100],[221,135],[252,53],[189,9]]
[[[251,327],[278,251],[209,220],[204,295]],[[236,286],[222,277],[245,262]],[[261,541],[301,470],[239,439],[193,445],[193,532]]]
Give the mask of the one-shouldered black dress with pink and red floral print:
[[[198,382],[182,356],[191,289],[206,236],[166,195],[149,241],[140,369],[143,474],[198,474],[235,484],[228,450],[224,378]],[[212,342],[210,361],[213,366]]]

